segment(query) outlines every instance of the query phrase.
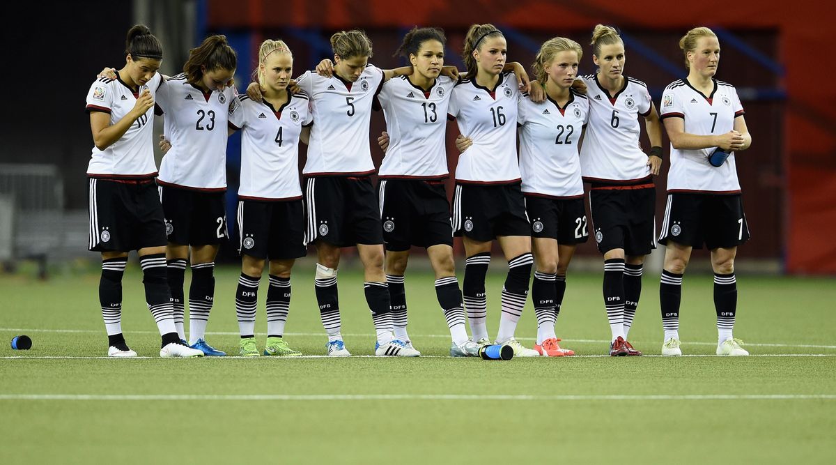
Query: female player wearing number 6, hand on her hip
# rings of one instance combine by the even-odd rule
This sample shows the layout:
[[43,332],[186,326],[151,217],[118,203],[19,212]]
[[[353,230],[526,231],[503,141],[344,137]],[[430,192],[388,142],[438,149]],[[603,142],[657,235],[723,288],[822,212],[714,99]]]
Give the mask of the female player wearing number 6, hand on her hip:
[[[627,335],[641,295],[645,255],[654,245],[655,187],[662,163],[659,115],[645,83],[624,76],[624,43],[609,26],[592,33],[598,72],[584,76],[589,125],[580,152],[589,182],[595,241],[604,254],[604,307],[612,333],[609,355],[641,355]],[[645,118],[650,155],[640,148],[638,116]]]

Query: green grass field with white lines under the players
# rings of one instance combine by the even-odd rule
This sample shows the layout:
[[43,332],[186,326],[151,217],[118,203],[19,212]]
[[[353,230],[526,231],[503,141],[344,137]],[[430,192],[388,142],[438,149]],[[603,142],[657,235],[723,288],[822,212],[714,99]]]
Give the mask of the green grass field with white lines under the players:
[[[502,267],[488,277],[488,328]],[[288,343],[324,355],[313,264],[293,277]],[[235,268],[217,270],[207,339],[237,353]],[[189,273],[186,273],[188,282]],[[460,275],[461,278],[461,275]],[[711,277],[686,275],[681,358],[610,358],[599,273],[570,275],[558,319],[579,356],[446,357],[431,273],[407,273],[419,359],[164,360],[135,263],[122,326],[150,358],[110,360],[98,274],[0,275],[0,463],[825,463],[836,456],[836,282],[738,276],[735,336],[750,357],[713,356]],[[658,355],[658,276],[645,274],[630,340]],[[362,274],[339,277],[343,334],[370,355]],[[266,330],[260,292],[257,331]],[[33,349],[8,341],[26,334]],[[533,345],[530,307],[517,338]],[[257,338],[263,347],[265,335]],[[23,358],[15,358],[23,357]]]

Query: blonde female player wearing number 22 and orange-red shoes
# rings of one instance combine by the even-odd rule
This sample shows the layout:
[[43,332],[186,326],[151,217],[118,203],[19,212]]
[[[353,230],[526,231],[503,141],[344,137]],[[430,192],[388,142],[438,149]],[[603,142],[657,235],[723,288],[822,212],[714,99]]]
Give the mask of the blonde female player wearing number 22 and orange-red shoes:
[[578,158],[579,141],[589,116],[586,96],[571,87],[584,52],[568,38],[552,38],[533,64],[547,101],[520,99],[517,121],[520,171],[536,271],[532,285],[540,355],[574,355],[561,349],[554,324],[566,292],[566,270],[576,247],[589,236],[584,211],[584,182]]

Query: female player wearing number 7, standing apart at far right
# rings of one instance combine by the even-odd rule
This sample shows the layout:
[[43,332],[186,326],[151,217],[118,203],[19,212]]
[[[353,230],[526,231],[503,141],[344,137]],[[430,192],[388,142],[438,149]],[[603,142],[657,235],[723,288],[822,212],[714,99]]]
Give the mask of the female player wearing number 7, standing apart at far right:
[[709,28],[680,39],[688,77],[662,95],[662,119],[670,138],[668,202],[659,242],[665,244],[659,299],[665,340],[662,355],[681,355],[679,309],[682,274],[693,248],[711,250],[717,355],[749,355],[734,339],[737,246],[749,239],[735,153],[752,145],[743,107],[732,84],[714,79],[720,42]]

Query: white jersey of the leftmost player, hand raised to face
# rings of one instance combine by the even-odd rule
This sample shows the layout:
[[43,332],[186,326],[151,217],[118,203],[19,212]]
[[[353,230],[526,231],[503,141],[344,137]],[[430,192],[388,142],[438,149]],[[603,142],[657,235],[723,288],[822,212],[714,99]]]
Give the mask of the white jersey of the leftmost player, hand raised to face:
[[[162,76],[154,74],[146,84],[134,92],[117,75],[116,79],[99,78],[87,92],[89,111],[110,114],[110,125],[115,125],[136,105],[136,99],[145,89],[156,100]],[[133,125],[109,147],[100,151],[95,146],[87,166],[92,177],[150,178],[157,174],[154,163],[154,107],[134,121]]]

